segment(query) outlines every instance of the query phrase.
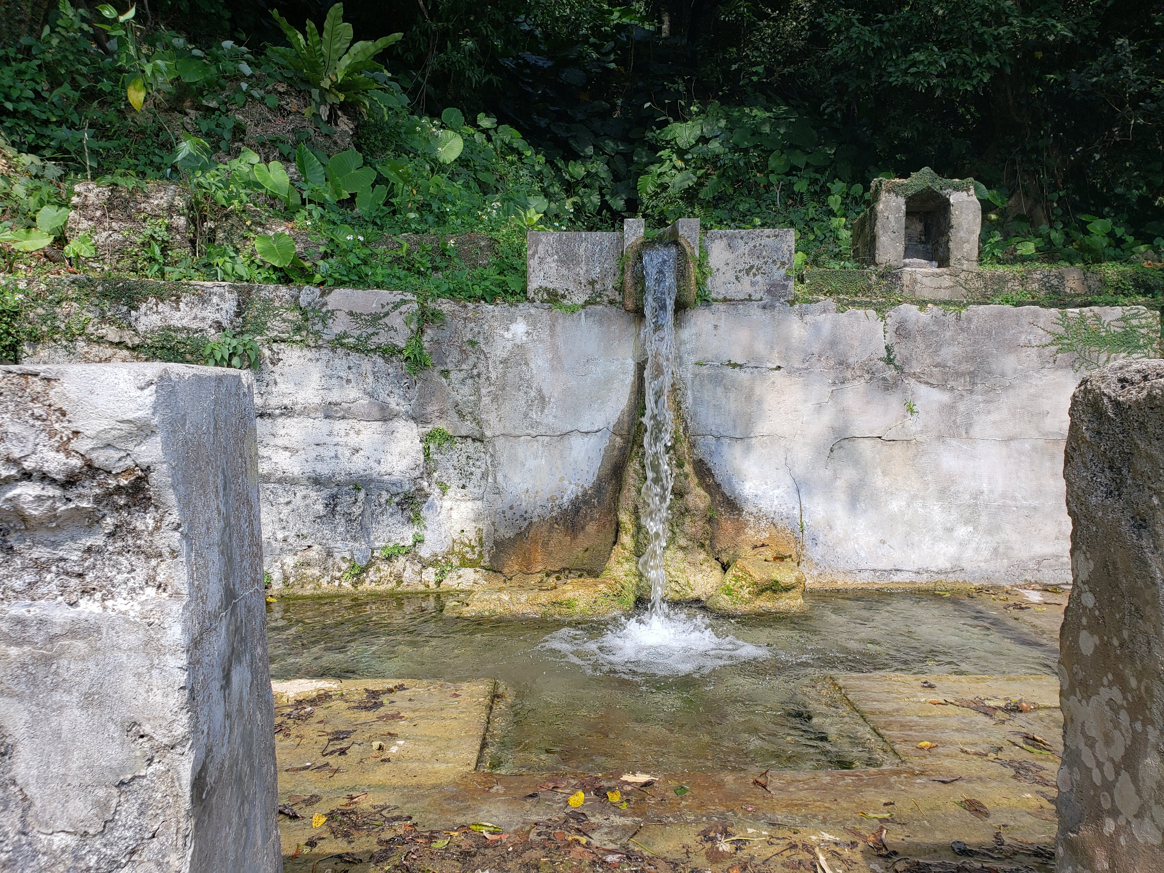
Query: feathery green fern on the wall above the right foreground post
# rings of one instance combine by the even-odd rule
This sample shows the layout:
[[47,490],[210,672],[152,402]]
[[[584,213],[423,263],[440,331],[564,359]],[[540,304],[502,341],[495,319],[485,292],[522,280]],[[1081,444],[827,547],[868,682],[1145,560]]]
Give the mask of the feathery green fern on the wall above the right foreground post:
[[1056,327],[1058,329],[1045,331],[1051,339],[1039,348],[1053,348],[1056,359],[1071,355],[1071,365],[1077,372],[1105,367],[1114,357],[1158,357],[1161,354],[1158,315],[1143,308],[1124,312],[1110,321],[1095,312],[1060,310]]

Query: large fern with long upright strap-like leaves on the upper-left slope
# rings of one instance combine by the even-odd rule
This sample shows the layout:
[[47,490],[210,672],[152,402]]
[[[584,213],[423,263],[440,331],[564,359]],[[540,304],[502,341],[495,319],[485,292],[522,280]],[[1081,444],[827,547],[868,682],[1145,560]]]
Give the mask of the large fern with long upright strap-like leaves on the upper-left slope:
[[271,15],[291,48],[272,45],[267,51],[303,80],[311,92],[312,111],[319,113],[324,121],[345,102],[363,112],[375,104],[381,113],[404,105],[399,87],[389,81],[384,68],[372,59],[398,42],[403,34],[353,45],[352,24],[343,21],[342,3],[328,10],[322,33],[308,21],[306,38],[277,9],[271,9]]

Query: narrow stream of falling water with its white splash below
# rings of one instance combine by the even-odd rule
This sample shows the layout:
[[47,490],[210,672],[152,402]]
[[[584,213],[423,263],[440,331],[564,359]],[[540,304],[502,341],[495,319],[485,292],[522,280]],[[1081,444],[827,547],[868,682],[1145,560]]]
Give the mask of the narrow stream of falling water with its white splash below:
[[651,583],[651,608],[645,616],[617,622],[597,639],[589,639],[584,631],[565,627],[551,633],[539,646],[558,652],[590,673],[681,676],[771,655],[767,650],[734,637],[717,637],[702,616],[686,615],[663,603],[667,590],[663,553],[669,533],[667,510],[674,482],[668,456],[674,416],[667,397],[675,346],[677,261],[674,242],[643,248],[647,363],[646,412],[643,416],[646,482],[640,492],[640,520],[646,528],[647,547],[639,559],[639,572]]

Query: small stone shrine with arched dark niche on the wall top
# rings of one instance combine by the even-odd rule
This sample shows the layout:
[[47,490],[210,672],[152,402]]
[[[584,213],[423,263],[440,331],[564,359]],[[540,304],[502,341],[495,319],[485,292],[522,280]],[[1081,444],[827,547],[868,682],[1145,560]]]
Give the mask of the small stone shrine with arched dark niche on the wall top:
[[863,267],[973,270],[981,226],[974,180],[927,166],[908,179],[873,179],[870,207],[853,223],[853,254]]

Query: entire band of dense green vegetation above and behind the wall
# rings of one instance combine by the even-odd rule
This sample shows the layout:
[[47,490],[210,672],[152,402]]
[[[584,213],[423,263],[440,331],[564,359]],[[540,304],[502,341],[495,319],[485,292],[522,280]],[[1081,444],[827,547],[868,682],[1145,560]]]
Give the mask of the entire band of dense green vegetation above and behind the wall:
[[[870,179],[923,165],[978,180],[987,263],[1164,258],[1158,3],[417,0],[348,2],[349,23],[303,0],[281,15],[222,0],[2,12],[9,269],[43,248],[84,268],[71,186],[149,178],[189,187],[196,227],[257,210],[313,240],[308,257],[270,220],[254,244],[207,237],[192,255],[143,237],[137,271],[159,277],[512,299],[525,228],[629,215],[790,226],[799,257],[845,267]],[[434,232],[490,234],[497,257],[379,250]]]

